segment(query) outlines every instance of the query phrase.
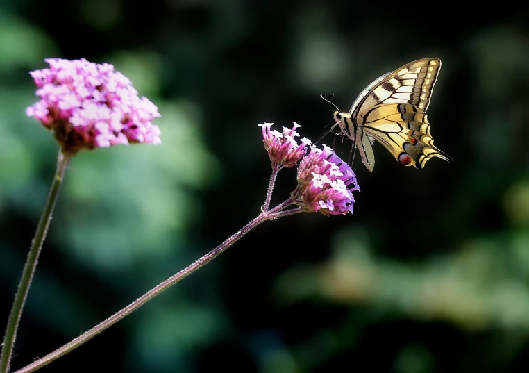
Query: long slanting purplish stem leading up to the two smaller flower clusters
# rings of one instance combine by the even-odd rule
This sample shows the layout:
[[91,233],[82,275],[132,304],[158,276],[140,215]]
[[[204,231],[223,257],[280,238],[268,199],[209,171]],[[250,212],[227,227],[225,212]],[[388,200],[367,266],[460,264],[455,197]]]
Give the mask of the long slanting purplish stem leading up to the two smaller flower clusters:
[[240,240],[240,238],[246,235],[246,233],[254,229],[256,226],[258,226],[262,222],[265,222],[271,219],[276,219],[276,216],[274,216],[274,214],[278,213],[280,210],[283,210],[283,208],[291,205],[292,203],[293,203],[292,199],[287,199],[287,201],[283,202],[283,204],[280,204],[267,212],[262,212],[258,217],[255,217],[255,219],[253,219],[251,222],[246,224],[240,231],[237,231],[237,233],[232,235],[226,241],[219,244],[219,246],[215,247],[215,249],[212,249],[212,251],[210,251],[208,254],[205,254],[205,256],[202,256],[198,260],[194,261],[194,263],[188,265],[183,270],[181,270],[174,276],[169,277],[169,279],[163,281],[159,285],[156,285],[156,287],[152,288],[151,290],[146,292],[144,295],[142,295],[140,298],[133,301],[133,303],[119,310],[114,315],[108,317],[108,319],[97,324],[89,331],[86,331],[85,333],[78,336],[71,342],[68,342],[66,345],[60,347],[59,349],[56,349],[55,351],[51,352],[50,354],[47,354],[46,356],[38,360],[35,360],[35,362],[31,363],[30,365],[26,365],[26,367],[23,367],[22,369],[17,370],[15,373],[35,372],[35,370],[38,370],[41,367],[44,367],[44,365],[48,365],[53,360],[56,360],[60,358],[61,356],[67,354],[69,351],[72,351],[73,349],[76,349],[77,347],[83,345],[83,343],[95,337],[96,335],[104,331],[105,329],[108,329],[110,326],[114,325],[115,323],[117,323],[119,320],[121,320],[125,316],[133,313],[133,311],[143,306],[147,301],[150,301],[151,299],[153,299],[153,297],[156,297],[156,295],[160,295],[162,292],[164,292],[169,287],[171,287],[171,285],[174,285],[175,283],[183,279],[185,276],[192,274],[199,268],[210,263],[211,260],[217,258],[217,256],[222,254],[226,249],[228,249],[228,247],[230,247],[232,244],[237,242],[237,240]]

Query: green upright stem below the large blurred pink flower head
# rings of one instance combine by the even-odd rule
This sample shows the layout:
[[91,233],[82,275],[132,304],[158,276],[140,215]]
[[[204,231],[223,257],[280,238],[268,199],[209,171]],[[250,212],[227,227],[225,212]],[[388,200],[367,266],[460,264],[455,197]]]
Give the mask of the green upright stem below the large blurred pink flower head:
[[24,308],[29,286],[31,285],[31,279],[33,279],[33,273],[35,273],[35,267],[37,267],[40,249],[42,249],[42,244],[46,238],[51,215],[53,214],[53,207],[55,207],[60,186],[62,185],[65,172],[71,159],[71,156],[65,156],[62,152],[59,152],[57,171],[53,177],[53,182],[51,183],[51,189],[48,194],[46,205],[44,206],[44,211],[42,211],[37,231],[35,232],[35,238],[33,238],[33,242],[31,242],[31,249],[29,249],[28,258],[24,265],[24,271],[22,272],[22,277],[18,285],[17,294],[15,295],[15,301],[13,302],[11,313],[9,314],[8,326],[6,328],[6,335],[3,338],[3,348],[0,356],[0,373],[7,373],[9,369],[12,349],[13,345],[15,345],[15,338],[17,337],[18,324],[20,322],[20,317],[22,316],[22,308]]

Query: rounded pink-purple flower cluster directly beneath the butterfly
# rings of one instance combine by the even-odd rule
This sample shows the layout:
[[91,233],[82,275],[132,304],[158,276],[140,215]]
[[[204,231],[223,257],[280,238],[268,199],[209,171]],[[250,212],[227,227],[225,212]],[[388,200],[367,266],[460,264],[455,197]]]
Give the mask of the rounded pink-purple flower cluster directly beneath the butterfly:
[[310,148],[298,167],[296,204],[324,215],[353,213],[353,191],[360,190],[353,170],[326,145]]

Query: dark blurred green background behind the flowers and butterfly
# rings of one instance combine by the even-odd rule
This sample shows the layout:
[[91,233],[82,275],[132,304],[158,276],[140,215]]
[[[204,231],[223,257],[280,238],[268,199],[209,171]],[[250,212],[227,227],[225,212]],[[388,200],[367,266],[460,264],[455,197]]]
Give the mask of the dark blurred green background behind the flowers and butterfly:
[[[258,123],[295,121],[317,140],[334,110],[319,94],[345,110],[381,74],[438,57],[428,117],[454,163],[401,167],[377,144],[373,174],[353,166],[353,215],[259,226],[42,372],[526,371],[529,6],[479,17],[437,6],[0,0],[0,320],[57,153],[25,116],[28,71],[47,57],[112,63],[160,108],[163,141],[73,160],[13,370],[260,213],[270,167]],[[280,174],[274,201],[294,177]]]

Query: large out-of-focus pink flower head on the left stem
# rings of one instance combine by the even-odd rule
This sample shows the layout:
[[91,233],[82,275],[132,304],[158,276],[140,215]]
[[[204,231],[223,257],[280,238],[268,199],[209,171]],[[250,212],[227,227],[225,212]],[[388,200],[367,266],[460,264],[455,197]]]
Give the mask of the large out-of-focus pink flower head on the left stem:
[[30,72],[40,97],[26,108],[55,133],[62,151],[117,144],[161,144],[160,129],[151,121],[158,108],[138,97],[132,82],[108,63],[47,58],[49,69]]

